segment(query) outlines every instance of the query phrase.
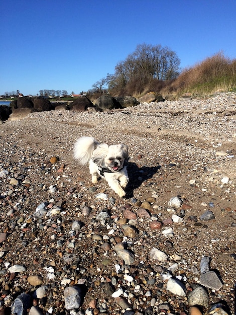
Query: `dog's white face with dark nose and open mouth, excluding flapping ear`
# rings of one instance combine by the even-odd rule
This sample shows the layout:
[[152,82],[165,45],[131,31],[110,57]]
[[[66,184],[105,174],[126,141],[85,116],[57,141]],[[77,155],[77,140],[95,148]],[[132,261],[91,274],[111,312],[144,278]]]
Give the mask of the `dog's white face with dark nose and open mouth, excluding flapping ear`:
[[104,164],[111,172],[119,172],[125,160],[128,159],[128,146],[125,144],[110,145],[104,159]]

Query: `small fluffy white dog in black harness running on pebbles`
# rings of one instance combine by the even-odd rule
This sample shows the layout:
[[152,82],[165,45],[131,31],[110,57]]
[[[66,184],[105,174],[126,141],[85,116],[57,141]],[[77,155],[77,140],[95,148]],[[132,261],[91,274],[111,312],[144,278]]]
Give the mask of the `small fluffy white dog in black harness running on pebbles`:
[[93,137],[81,137],[74,145],[74,159],[81,165],[89,162],[92,183],[96,184],[99,176],[105,178],[108,185],[120,197],[124,197],[129,177],[125,161],[128,160],[128,146],[116,144],[108,146],[98,143]]

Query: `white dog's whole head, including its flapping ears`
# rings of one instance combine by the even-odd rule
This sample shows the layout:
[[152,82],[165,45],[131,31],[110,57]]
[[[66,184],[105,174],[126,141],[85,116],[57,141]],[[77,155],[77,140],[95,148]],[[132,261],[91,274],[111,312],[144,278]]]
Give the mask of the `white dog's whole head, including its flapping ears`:
[[102,143],[93,151],[92,161],[100,167],[105,166],[111,172],[119,172],[128,157],[128,146],[126,144],[108,146]]

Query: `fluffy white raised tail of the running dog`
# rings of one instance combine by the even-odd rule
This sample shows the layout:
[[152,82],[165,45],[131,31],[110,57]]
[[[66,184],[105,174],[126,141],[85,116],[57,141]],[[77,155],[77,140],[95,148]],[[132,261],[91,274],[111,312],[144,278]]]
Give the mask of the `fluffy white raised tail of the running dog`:
[[81,165],[85,165],[91,159],[92,152],[97,147],[97,141],[93,137],[81,137],[74,145],[74,159]]

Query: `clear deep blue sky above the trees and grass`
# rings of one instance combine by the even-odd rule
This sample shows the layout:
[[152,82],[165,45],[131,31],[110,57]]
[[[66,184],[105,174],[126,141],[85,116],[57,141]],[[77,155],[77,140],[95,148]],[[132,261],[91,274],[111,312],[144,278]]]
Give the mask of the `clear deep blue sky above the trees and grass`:
[[91,89],[138,44],[236,58],[236,0],[2,0],[0,95]]

